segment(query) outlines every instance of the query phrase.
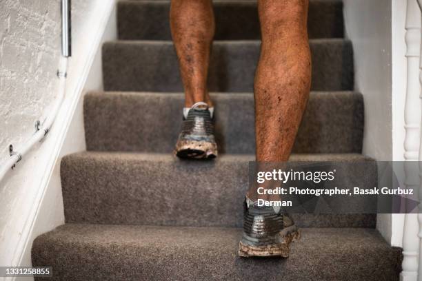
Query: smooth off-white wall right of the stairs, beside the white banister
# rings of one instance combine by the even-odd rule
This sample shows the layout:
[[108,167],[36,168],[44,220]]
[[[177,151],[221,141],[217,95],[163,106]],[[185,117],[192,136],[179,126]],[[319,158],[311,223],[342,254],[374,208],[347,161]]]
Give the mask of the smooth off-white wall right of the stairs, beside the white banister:
[[[354,48],[355,90],[365,102],[363,154],[392,160],[391,1],[344,0],[344,5],[346,33]],[[390,214],[379,214],[376,227],[391,241]]]

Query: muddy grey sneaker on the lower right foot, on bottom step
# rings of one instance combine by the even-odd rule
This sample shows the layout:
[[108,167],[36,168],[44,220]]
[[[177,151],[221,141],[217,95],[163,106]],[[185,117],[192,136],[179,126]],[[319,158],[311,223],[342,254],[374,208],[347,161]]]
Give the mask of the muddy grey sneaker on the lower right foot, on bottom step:
[[289,256],[289,244],[299,240],[300,231],[290,216],[281,213],[280,207],[259,207],[245,198],[239,256]]

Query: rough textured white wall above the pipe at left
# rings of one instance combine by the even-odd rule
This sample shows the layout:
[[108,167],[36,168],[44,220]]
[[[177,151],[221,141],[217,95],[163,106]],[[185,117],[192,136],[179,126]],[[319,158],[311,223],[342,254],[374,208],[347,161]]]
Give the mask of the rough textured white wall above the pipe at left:
[[59,0],[0,1],[0,159],[54,98],[59,20]]

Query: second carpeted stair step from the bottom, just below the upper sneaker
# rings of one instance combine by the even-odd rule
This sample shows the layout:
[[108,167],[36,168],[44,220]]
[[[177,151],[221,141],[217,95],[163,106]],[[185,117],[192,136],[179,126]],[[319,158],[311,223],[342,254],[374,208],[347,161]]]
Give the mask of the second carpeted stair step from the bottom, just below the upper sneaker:
[[[66,222],[128,225],[240,227],[254,156],[224,155],[212,161],[170,154],[82,152],[61,162]],[[368,161],[360,154],[294,154],[296,161]],[[372,160],[371,160],[372,161]],[[376,186],[376,163],[354,165],[337,186]],[[376,202],[359,197],[350,204]],[[302,227],[374,227],[372,214],[295,214]]]

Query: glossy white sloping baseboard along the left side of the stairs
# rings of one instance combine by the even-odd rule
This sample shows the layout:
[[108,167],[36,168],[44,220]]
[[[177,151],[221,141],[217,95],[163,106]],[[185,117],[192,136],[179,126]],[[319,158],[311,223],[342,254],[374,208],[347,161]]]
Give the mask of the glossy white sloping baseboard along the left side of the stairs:
[[[37,195],[32,202],[28,202],[32,208],[22,227],[21,237],[12,258],[12,266],[28,265],[26,259],[28,259],[28,255],[30,256],[32,240],[34,236],[38,235],[37,233],[34,233],[34,229],[36,229],[36,222],[40,215],[41,205],[46,196],[48,196],[48,186],[50,185],[52,178],[54,178],[54,171],[56,171],[56,173],[58,172],[57,169],[60,162],[63,143],[68,135],[71,121],[74,118],[77,107],[83,98],[83,89],[91,74],[90,71],[94,59],[96,59],[99,52],[101,53],[103,34],[106,32],[109,21],[114,17],[115,4],[115,0],[107,0],[101,1],[101,3],[97,5],[98,9],[95,12],[97,19],[94,21],[95,25],[89,42],[83,44],[84,54],[82,57],[72,57],[72,59],[70,59],[70,68],[68,70],[68,81],[70,81],[70,83],[68,83],[68,86],[66,87],[66,98],[61,105],[57,119],[54,121],[52,131],[49,134],[50,138],[54,138],[54,143],[52,144],[53,148],[48,158],[48,165],[42,176]],[[90,28],[92,28],[92,26]],[[62,209],[63,202],[60,202],[60,204]],[[47,228],[54,228],[57,226],[55,224],[57,224],[57,222],[45,223]],[[46,229],[46,227],[44,227],[45,231],[50,230]],[[25,280],[28,280],[28,278]]]

